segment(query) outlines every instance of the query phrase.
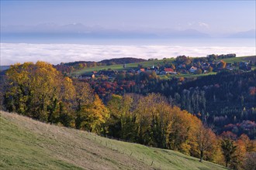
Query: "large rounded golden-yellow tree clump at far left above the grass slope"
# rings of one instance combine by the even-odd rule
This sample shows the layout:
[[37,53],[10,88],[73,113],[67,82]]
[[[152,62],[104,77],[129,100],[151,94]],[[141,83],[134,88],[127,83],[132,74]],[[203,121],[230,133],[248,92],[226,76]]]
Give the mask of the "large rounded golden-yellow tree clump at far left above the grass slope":
[[61,73],[50,63],[15,64],[7,71],[9,90],[5,94],[7,109],[40,121],[50,119],[49,107],[57,103],[61,91]]

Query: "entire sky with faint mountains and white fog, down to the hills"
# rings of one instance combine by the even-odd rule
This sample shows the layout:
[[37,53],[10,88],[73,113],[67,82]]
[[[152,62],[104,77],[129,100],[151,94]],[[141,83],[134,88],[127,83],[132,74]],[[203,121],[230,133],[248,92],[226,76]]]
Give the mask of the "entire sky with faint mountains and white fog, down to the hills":
[[0,65],[256,55],[256,1],[0,0]]

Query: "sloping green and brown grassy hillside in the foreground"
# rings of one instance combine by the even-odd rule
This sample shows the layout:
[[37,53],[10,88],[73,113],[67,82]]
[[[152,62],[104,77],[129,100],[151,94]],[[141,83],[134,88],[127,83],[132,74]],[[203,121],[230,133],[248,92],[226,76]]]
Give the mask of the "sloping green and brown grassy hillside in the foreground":
[[0,169],[224,169],[176,151],[102,138],[1,111]]

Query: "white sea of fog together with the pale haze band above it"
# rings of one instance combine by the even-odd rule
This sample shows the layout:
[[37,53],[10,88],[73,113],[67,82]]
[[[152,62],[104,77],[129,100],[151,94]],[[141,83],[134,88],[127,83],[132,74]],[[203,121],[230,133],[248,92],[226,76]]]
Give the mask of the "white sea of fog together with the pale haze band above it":
[[57,64],[119,57],[143,59],[236,53],[256,55],[255,39],[15,39],[1,41],[1,66],[36,62]]

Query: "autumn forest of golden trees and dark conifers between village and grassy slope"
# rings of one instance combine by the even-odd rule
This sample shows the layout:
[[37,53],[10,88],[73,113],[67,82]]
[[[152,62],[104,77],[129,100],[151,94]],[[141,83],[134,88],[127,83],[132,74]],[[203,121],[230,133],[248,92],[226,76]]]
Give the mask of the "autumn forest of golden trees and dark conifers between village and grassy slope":
[[161,80],[154,72],[119,74],[112,83],[82,80],[64,76],[50,63],[17,63],[2,75],[1,109],[180,151],[200,162],[251,169],[255,71],[188,80]]

